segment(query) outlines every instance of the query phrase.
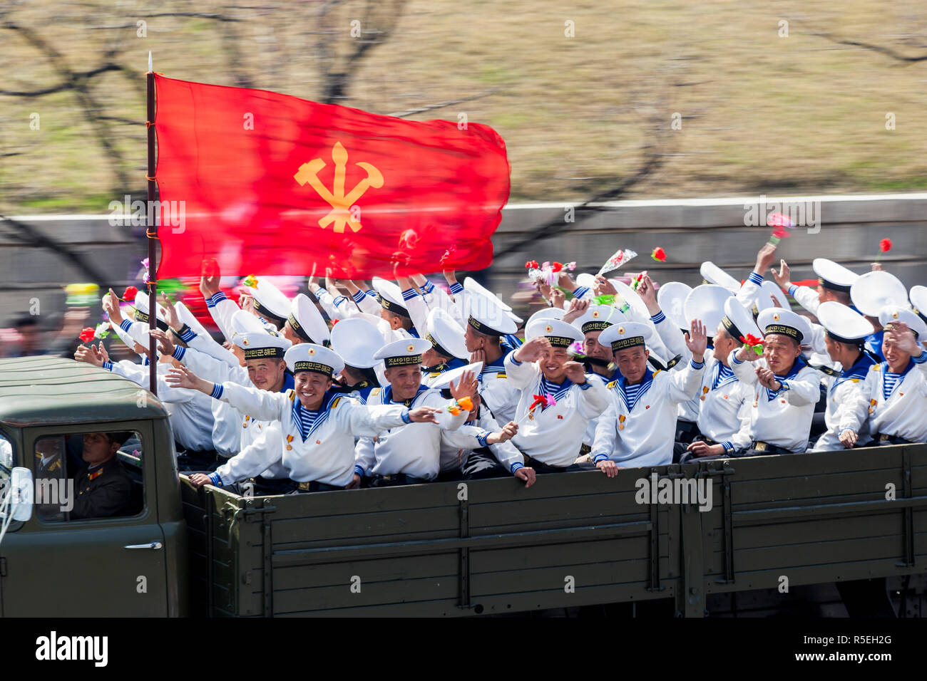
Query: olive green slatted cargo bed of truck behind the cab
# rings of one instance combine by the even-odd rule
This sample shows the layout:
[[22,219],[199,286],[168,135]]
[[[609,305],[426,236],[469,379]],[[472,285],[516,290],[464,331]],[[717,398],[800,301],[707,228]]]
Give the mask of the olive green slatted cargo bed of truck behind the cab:
[[[638,503],[705,479],[712,508]],[[182,476],[193,612],[464,616],[923,574],[927,445],[241,498]],[[464,486],[465,485],[465,486]],[[895,499],[886,498],[894,486]]]

